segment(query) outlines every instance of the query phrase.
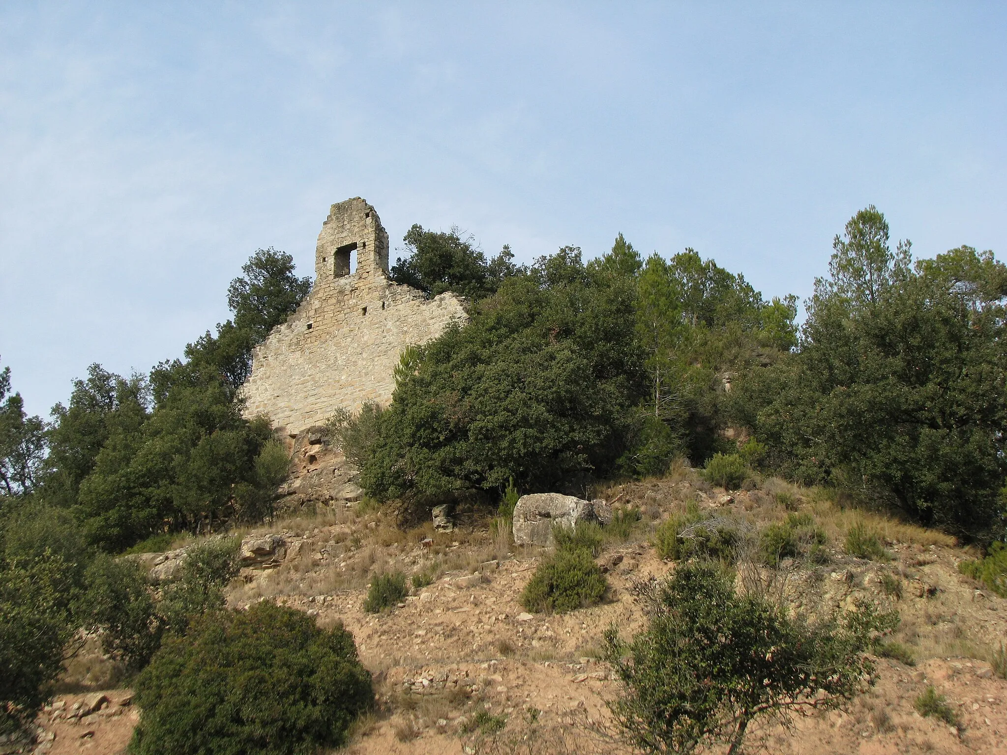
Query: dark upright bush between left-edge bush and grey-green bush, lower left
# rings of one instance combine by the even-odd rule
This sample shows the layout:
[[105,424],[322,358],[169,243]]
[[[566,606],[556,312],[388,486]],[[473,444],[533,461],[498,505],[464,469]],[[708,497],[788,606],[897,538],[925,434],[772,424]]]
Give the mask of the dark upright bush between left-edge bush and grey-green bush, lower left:
[[127,668],[142,668],[160,647],[164,630],[143,569],[130,559],[102,554],[88,568],[87,582],[79,615],[101,630],[108,654]]

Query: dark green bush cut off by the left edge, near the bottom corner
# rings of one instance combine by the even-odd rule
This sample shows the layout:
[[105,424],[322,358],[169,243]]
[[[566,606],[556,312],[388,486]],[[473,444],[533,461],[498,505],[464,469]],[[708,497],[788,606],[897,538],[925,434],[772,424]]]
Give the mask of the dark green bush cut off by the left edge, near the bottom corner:
[[65,570],[48,552],[0,562],[0,734],[34,720],[61,670],[73,632]]

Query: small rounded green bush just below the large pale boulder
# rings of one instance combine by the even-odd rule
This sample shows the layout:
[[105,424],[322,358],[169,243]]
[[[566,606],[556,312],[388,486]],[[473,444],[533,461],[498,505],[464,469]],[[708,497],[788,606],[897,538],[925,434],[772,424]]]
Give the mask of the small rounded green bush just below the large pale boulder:
[[533,613],[566,613],[598,603],[606,587],[605,576],[588,551],[559,550],[535,570],[521,604]]

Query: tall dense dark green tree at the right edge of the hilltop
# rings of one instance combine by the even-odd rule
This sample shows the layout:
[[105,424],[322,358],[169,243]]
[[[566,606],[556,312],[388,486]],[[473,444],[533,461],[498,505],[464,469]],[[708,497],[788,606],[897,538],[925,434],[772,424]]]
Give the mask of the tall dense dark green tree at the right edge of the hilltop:
[[887,223],[871,207],[846,235],[799,353],[741,385],[747,422],[785,474],[995,539],[1007,478],[1007,267],[968,247],[910,266],[906,247],[887,251]]

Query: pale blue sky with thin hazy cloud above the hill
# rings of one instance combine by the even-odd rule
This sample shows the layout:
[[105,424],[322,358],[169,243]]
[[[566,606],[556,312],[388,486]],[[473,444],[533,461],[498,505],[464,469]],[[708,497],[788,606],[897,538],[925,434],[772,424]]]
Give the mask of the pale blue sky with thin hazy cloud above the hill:
[[870,203],[919,257],[1002,256],[1005,38],[978,2],[2,3],[2,364],[44,416],[92,362],[180,355],[357,195],[393,248],[621,232],[766,297]]

